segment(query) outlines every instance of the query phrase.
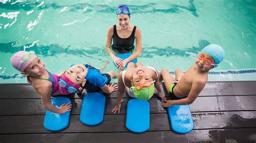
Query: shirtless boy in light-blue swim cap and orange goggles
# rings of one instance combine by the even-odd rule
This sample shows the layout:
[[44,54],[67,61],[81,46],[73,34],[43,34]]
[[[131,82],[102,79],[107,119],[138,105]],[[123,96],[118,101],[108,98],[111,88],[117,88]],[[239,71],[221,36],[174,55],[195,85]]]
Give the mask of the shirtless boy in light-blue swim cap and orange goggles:
[[172,100],[164,100],[163,107],[172,105],[191,104],[205,87],[208,71],[217,67],[224,59],[225,51],[216,44],[210,44],[202,49],[194,65],[184,74],[176,69],[172,77],[168,70],[163,69],[159,75],[159,81],[164,80],[165,88],[169,91]]

